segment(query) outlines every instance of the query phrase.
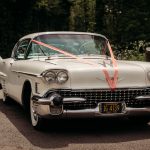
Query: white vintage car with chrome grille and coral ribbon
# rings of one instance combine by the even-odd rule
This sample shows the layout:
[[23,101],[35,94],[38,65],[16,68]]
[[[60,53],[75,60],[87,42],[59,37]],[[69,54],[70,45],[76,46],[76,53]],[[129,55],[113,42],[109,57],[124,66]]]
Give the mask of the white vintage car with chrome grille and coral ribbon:
[[150,117],[150,63],[116,60],[95,33],[24,36],[11,58],[0,58],[0,88],[4,102],[30,110],[36,129],[44,118]]

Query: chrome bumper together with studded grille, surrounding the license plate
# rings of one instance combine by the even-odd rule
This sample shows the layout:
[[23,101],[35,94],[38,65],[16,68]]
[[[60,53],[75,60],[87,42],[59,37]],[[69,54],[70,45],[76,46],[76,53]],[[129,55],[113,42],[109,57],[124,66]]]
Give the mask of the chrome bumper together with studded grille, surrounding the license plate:
[[[62,97],[62,99],[60,97]],[[86,99],[86,97],[88,97],[88,100]],[[58,101],[59,98],[60,101]],[[110,90],[103,90],[103,89],[99,89],[99,90],[60,89],[60,90],[52,90],[52,91],[50,90],[43,97],[33,96],[32,99],[35,104],[35,111],[41,117],[88,118],[88,117],[150,115],[150,88],[116,89],[115,92],[112,92]],[[103,114],[100,113],[99,111],[99,105],[97,104],[91,105],[92,102],[94,102],[94,104],[95,103],[100,104],[101,102],[124,102],[126,103],[126,105],[122,113]],[[76,107],[77,106],[76,104],[78,103],[83,104],[83,106],[84,104],[89,104],[89,105],[88,107]],[[58,113],[56,115],[52,114],[50,111],[50,106],[52,105],[59,106],[59,104],[62,105],[62,108],[64,106],[64,110],[62,109],[62,113]],[[70,107],[70,104],[71,106],[73,104],[73,107]]]

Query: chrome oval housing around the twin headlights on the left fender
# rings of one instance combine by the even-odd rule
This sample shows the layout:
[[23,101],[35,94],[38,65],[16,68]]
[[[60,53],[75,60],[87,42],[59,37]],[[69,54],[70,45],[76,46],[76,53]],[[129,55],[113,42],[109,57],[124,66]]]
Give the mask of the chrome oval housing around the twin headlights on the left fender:
[[[66,75],[66,80],[60,82],[59,81],[59,75],[63,73],[63,75]],[[53,80],[48,80],[48,76],[52,75],[53,76]],[[46,70],[41,74],[42,78],[44,79],[44,81],[48,84],[52,84],[52,83],[57,83],[57,84],[64,84],[68,81],[69,76],[68,76],[68,71],[67,70],[63,70],[63,69],[51,69],[51,70]]]

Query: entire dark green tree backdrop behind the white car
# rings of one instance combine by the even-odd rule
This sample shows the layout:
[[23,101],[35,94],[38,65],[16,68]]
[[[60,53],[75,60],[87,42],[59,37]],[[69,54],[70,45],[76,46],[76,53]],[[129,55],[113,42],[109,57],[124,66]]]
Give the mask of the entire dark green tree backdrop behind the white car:
[[5,0],[0,7],[3,57],[20,37],[41,31],[101,33],[121,59],[130,60],[144,60],[139,49],[150,42],[149,0]]

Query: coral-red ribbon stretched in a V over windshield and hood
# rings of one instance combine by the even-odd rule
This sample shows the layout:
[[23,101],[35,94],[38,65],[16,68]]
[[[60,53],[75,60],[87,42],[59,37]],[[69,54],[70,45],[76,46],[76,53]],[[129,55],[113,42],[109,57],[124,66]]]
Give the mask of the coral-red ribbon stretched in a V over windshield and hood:
[[[69,57],[72,57],[72,58],[75,58],[77,59],[79,62],[82,62],[82,63],[86,63],[86,64],[90,64],[90,65],[93,65],[93,66],[96,66],[96,67],[99,67],[98,64],[94,63],[94,62],[91,62],[91,61],[87,61],[87,60],[84,60],[76,55],[73,55],[71,53],[68,53],[66,51],[63,51],[57,47],[54,47],[52,45],[48,45],[48,44],[45,44],[43,42],[40,42],[40,41],[37,41],[37,40],[32,40],[32,42],[38,44],[38,45],[41,45],[41,46],[44,46],[44,47],[47,47],[47,48],[50,48],[54,51],[57,51],[59,53],[62,53],[66,56],[69,56]],[[114,58],[114,55],[113,55],[113,51],[112,51],[112,48],[110,46],[110,44],[108,43],[108,49],[109,49],[109,52],[110,52],[110,56],[111,56],[111,61],[112,61],[112,64],[113,64],[113,68],[114,68],[114,75],[113,77],[110,77],[108,71],[107,71],[107,68],[105,66],[103,66],[103,73],[105,75],[105,79],[110,87],[110,89],[112,91],[114,91],[117,87],[117,80],[118,80],[118,66],[117,66],[117,62],[116,62],[116,59]]]

